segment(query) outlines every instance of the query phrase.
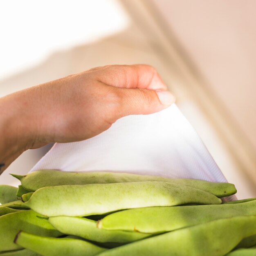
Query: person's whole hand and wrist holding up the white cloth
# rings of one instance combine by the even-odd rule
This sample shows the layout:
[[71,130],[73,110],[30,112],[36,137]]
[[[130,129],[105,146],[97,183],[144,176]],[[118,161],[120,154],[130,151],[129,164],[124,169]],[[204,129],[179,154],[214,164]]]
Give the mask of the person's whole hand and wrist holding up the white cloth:
[[29,148],[88,139],[174,101],[148,65],[97,67],[9,94],[0,99],[0,173]]

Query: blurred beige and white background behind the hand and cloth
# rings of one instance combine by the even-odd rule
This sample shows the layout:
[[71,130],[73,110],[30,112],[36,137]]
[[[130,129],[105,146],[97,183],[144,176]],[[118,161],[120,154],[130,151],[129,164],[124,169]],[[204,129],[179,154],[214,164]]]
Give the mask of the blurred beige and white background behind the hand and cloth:
[[[0,97],[109,64],[153,65],[238,199],[256,197],[256,1],[0,2]],[[0,176],[27,173],[27,150]],[[10,176],[10,177],[9,177]]]

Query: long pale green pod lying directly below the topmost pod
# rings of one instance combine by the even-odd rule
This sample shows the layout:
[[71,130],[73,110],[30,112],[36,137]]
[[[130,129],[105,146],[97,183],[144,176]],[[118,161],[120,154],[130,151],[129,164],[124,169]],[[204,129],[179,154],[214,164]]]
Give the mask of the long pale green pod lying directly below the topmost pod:
[[87,216],[120,209],[186,203],[220,204],[215,195],[168,182],[48,186],[24,205],[45,216]]

